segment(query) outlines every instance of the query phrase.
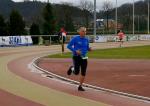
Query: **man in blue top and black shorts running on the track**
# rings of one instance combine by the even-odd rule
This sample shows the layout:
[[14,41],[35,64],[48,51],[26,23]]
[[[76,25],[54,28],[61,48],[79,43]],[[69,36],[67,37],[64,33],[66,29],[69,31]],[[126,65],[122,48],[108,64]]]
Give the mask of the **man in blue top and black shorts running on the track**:
[[73,54],[73,65],[67,71],[68,75],[74,73],[75,75],[79,75],[81,69],[81,76],[80,76],[80,84],[78,87],[78,91],[85,91],[82,87],[82,84],[85,79],[86,69],[87,69],[87,52],[91,51],[89,47],[89,40],[85,37],[86,35],[86,28],[80,27],[79,35],[75,36],[69,43],[67,48],[72,51]]

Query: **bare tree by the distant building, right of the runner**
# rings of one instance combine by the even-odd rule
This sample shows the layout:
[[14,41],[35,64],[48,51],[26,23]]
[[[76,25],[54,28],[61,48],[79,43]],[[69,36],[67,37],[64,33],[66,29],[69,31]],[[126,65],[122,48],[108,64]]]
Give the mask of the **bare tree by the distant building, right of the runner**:
[[113,5],[111,1],[107,0],[103,2],[103,10],[107,18],[107,26],[106,26],[107,30],[108,30],[108,19],[112,9],[113,9]]

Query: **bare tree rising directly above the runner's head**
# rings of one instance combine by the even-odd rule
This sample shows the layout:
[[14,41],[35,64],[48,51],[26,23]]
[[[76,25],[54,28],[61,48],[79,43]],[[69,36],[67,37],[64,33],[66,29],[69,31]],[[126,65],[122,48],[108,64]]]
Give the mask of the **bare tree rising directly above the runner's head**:
[[83,12],[83,17],[85,19],[86,27],[89,26],[89,16],[90,13],[93,12],[94,5],[91,1],[88,0],[80,0],[80,8]]

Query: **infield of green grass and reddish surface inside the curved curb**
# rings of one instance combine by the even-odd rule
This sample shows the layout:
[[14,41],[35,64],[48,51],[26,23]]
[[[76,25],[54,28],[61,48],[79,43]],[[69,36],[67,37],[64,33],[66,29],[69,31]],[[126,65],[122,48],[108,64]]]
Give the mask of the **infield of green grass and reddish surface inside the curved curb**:
[[[89,65],[85,83],[150,97],[150,93],[147,93],[147,83],[150,83],[149,54],[150,46],[93,50],[88,54]],[[72,65],[71,57],[71,53],[49,55],[48,58],[40,60],[38,65],[45,70],[78,81],[78,77],[66,75],[68,67]]]

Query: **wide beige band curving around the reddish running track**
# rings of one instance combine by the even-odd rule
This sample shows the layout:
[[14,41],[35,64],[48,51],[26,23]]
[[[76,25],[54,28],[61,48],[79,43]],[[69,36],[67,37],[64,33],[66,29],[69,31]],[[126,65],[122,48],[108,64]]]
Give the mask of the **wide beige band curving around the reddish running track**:
[[[26,56],[31,56],[30,58],[33,59],[37,55],[50,53],[52,48],[54,48],[55,50],[55,46],[47,47],[46,50],[43,50],[43,48],[41,47],[37,48],[35,51],[34,48],[32,48],[32,51],[30,51],[30,53],[28,51],[28,48],[26,48],[26,51],[23,50],[21,52],[21,50],[18,50],[20,53],[12,53],[11,55],[0,57],[0,88],[14,95],[26,98],[39,104],[43,104],[45,106],[69,106],[72,104],[73,106],[77,106],[78,104],[81,104],[82,106],[107,106],[100,102],[68,95],[66,93],[51,89],[50,87],[48,88],[38,83],[31,82],[28,79],[24,79],[16,75],[15,73],[12,73],[11,69],[7,68],[7,63],[15,59],[19,59],[21,57],[27,58]],[[59,49],[59,47],[57,47],[57,49]],[[22,65],[27,67],[27,64],[25,63],[18,63],[17,66],[13,67],[17,68]],[[23,70],[19,71],[23,72]],[[36,77],[39,78],[39,75],[37,75]]]

